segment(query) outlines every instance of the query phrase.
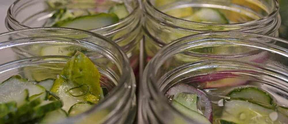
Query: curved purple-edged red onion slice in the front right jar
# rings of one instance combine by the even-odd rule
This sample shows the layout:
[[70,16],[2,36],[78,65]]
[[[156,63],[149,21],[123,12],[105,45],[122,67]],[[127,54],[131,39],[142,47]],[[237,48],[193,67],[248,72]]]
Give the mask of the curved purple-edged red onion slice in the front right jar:
[[196,89],[192,86],[189,86],[187,84],[179,84],[177,86],[174,86],[172,88],[170,88],[166,95],[177,95],[179,93],[193,93],[193,94],[197,94],[198,97],[201,98],[202,102],[205,103],[205,111],[204,111],[204,116],[209,119],[210,122],[213,121],[213,115],[212,115],[212,105],[210,100],[206,97],[206,94],[199,90]]

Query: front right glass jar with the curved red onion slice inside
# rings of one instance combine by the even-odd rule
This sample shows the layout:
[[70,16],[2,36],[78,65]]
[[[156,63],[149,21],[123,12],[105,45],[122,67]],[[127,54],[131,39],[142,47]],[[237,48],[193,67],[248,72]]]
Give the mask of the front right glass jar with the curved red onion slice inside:
[[[202,113],[206,115],[206,110],[210,112],[208,115],[212,115],[213,119],[209,119],[214,123],[219,123],[217,107],[221,106],[221,100],[223,103],[231,98],[224,94],[234,88],[257,87],[273,96],[273,103],[279,108],[288,110],[287,43],[288,41],[266,35],[219,32],[190,35],[168,44],[151,59],[144,70],[139,95],[139,121],[165,124],[204,123],[181,113],[170,104],[175,97],[171,98],[169,94],[174,91],[195,91],[198,98],[199,93],[202,93],[200,98],[208,99],[202,99],[206,101],[204,105],[212,106],[212,109],[202,108]],[[189,88],[170,90],[181,84]],[[281,113],[288,114],[285,110]],[[233,111],[230,113],[233,114]],[[279,112],[280,110],[278,117],[281,117]],[[284,122],[287,119],[286,116]]]

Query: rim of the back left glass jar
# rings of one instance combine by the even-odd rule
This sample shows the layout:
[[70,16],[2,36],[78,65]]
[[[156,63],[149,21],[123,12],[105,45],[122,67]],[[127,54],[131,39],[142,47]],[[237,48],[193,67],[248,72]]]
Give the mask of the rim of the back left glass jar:
[[[22,1],[22,0],[16,0],[16,1],[13,2],[12,5],[10,5],[10,7],[8,8],[8,10],[7,10],[7,16],[6,16],[6,18],[5,18],[6,27],[9,27],[9,26],[7,26],[7,25],[8,25],[8,24],[7,24],[7,23],[8,23],[8,22],[7,22],[7,19],[9,18],[10,20],[13,21],[13,23],[16,23],[18,26],[20,26],[20,27],[22,27],[22,28],[30,28],[30,29],[31,29],[31,28],[35,28],[35,27],[26,26],[26,25],[24,25],[23,23],[19,22],[18,20],[16,20],[16,19],[14,18],[14,15],[12,14],[12,10],[14,9],[14,5],[16,5],[16,4],[17,4],[18,2],[20,2],[20,1]],[[34,0],[32,0],[32,1],[34,1]],[[32,2],[32,1],[30,1],[30,2]],[[137,2],[137,6],[135,6],[135,7],[133,8],[133,11],[132,11],[127,17],[119,20],[117,23],[112,24],[112,25],[106,25],[106,26],[100,27],[100,28],[90,29],[90,30],[87,30],[87,31],[91,31],[91,32],[101,31],[101,30],[109,29],[109,28],[111,28],[111,27],[116,27],[116,26],[118,26],[118,25],[121,25],[122,23],[125,23],[125,22],[131,20],[131,19],[133,18],[133,15],[137,14],[137,11],[140,10],[140,3],[139,3],[138,0],[136,0],[136,2]],[[8,29],[9,29],[9,28],[8,28]],[[14,29],[14,30],[15,30],[15,29]],[[108,33],[108,34],[109,34],[109,33]],[[107,35],[107,34],[103,34],[103,35]]]

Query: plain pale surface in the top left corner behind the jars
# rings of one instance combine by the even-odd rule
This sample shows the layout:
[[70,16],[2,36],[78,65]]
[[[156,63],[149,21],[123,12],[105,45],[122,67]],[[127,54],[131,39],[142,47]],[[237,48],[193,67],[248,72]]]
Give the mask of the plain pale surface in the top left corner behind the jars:
[[14,2],[14,0],[0,0],[0,33],[7,32],[5,27],[5,17],[9,6]]

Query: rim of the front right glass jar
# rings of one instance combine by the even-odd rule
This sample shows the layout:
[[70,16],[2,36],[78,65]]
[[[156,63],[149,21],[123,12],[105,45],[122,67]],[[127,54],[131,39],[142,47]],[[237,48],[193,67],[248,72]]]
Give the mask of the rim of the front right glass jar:
[[[149,63],[147,64],[147,66],[145,67],[144,73],[143,73],[143,83],[141,83],[141,85],[145,85],[142,87],[146,87],[148,90],[147,92],[151,93],[151,99],[154,99],[155,97],[157,97],[157,100],[159,102],[161,102],[161,106],[165,107],[165,109],[169,109],[172,110],[173,113],[176,113],[177,115],[180,115],[181,117],[183,117],[183,119],[188,120],[188,121],[192,121],[192,119],[190,119],[189,117],[185,116],[183,113],[179,112],[178,110],[176,110],[173,106],[171,106],[170,104],[168,104],[167,102],[167,98],[163,95],[163,92],[160,91],[159,89],[159,83],[163,83],[163,82],[159,82],[156,77],[156,71],[157,69],[159,69],[159,67],[162,64],[162,61],[164,61],[163,59],[167,59],[167,57],[174,55],[174,51],[179,51],[182,50],[181,46],[184,45],[192,45],[191,41],[185,41],[184,43],[180,43],[180,41],[183,40],[189,40],[192,38],[195,38],[197,40],[202,40],[200,38],[197,39],[197,37],[203,37],[205,38],[208,36],[212,36],[212,35],[225,35],[225,34],[234,34],[237,35],[235,37],[243,37],[243,35],[253,35],[255,37],[263,37],[263,38],[267,38],[270,40],[275,40],[277,42],[282,42],[284,44],[288,44],[287,40],[281,39],[281,38],[277,38],[277,37],[271,37],[268,35],[259,35],[259,34],[255,34],[255,33],[245,33],[245,32],[209,32],[209,33],[200,33],[200,34],[195,34],[195,35],[189,35],[186,37],[182,37],[178,40],[175,40],[174,42],[171,42],[170,44],[164,46],[160,51],[157,52],[157,54],[154,56],[154,58],[152,58]],[[211,37],[212,39],[213,37]],[[228,37],[229,38],[229,37]],[[265,45],[266,48],[264,48],[264,50],[270,51],[270,52],[274,52],[275,54],[281,54],[285,57],[288,58],[288,47],[283,48],[282,46],[276,46],[273,44],[269,44],[269,43],[262,43],[260,42],[259,44]],[[271,48],[270,48],[271,47]],[[185,49],[185,48],[184,48]],[[280,51],[279,51],[280,50]],[[167,54],[166,54],[167,53]],[[177,53],[176,53],[177,54]],[[203,61],[214,61],[214,60],[203,60]],[[201,61],[201,62],[203,62]],[[194,64],[197,65],[200,61],[195,62]],[[222,63],[225,63],[225,60],[221,60]],[[264,65],[258,65],[255,63],[249,63],[249,62],[242,62],[242,61],[236,61],[236,63],[247,63],[249,65],[254,65],[253,67],[266,67]],[[189,65],[190,66],[190,65]],[[191,66],[190,66],[191,67]],[[268,69],[273,69],[273,68],[268,68]],[[288,77],[288,73],[286,72],[287,70],[283,71],[283,70],[277,70],[277,74],[285,74],[285,76]],[[149,72],[149,73],[148,73]],[[162,78],[161,78],[162,79]],[[288,78],[286,79],[288,80]],[[158,83],[159,82],[159,83]]]

